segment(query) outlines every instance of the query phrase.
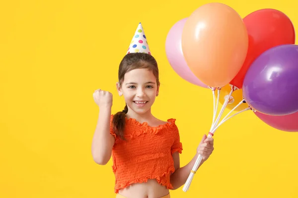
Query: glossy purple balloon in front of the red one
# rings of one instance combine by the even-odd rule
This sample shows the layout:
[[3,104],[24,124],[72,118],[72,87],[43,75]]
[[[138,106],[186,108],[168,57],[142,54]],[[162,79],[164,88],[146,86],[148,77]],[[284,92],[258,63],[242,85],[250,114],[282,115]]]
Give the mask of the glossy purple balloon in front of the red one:
[[248,69],[243,97],[250,107],[268,115],[298,111],[298,46],[281,45],[262,53]]

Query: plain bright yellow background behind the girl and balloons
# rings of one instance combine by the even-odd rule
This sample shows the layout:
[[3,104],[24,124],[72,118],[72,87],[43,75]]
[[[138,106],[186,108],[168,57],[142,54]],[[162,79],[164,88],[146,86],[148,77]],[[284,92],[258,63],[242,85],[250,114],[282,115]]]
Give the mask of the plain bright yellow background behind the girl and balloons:
[[[116,94],[117,69],[139,22],[160,68],[153,113],[177,119],[184,146],[181,165],[188,163],[210,129],[212,94],[173,71],[164,45],[175,22],[208,2],[2,0],[0,198],[115,197],[112,162],[100,166],[91,156],[98,116],[92,93],[110,91],[112,112],[123,109]],[[276,8],[298,27],[294,0],[219,2],[242,17]],[[246,111],[214,138],[214,153],[190,191],[172,191],[172,198],[298,197],[298,133],[275,130]]]

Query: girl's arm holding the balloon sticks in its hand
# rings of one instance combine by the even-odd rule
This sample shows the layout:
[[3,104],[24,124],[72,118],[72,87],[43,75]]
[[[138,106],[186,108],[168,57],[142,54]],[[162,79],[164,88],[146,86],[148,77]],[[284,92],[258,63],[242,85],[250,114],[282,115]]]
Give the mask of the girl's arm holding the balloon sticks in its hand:
[[192,158],[192,160],[185,166],[180,168],[180,158],[179,158],[179,152],[174,152],[172,154],[174,159],[174,167],[175,172],[171,175],[171,184],[173,186],[173,190],[176,190],[180,188],[182,185],[186,183],[186,180],[190,174],[191,169],[195,165],[195,162],[199,156],[199,154],[203,155],[203,159],[201,161],[201,164],[199,167],[206,161],[211,153],[214,150],[213,147],[213,138],[206,139],[206,135],[204,135],[199,147],[197,148],[196,155]]

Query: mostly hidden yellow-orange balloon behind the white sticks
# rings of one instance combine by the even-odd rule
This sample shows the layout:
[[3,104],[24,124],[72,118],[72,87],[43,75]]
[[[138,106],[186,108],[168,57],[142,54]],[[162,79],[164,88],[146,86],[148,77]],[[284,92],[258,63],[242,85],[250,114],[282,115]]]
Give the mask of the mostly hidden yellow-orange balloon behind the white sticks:
[[[230,85],[226,85],[226,86],[222,87],[221,92],[220,92],[220,99],[219,99],[221,104],[224,104],[224,100],[228,97],[230,91],[231,91]],[[216,91],[216,94],[215,94],[216,99],[218,98],[217,93],[218,92]],[[228,104],[226,105],[226,108],[232,110],[242,100],[243,100],[242,90],[235,90],[229,97],[229,101],[228,101]],[[248,107],[247,103],[242,103],[234,111],[241,111],[247,107]]]

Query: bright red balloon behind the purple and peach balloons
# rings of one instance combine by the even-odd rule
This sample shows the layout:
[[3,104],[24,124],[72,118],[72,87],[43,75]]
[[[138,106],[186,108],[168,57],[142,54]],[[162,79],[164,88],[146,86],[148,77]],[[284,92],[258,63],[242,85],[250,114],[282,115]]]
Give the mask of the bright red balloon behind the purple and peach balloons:
[[248,33],[248,51],[240,71],[230,82],[239,89],[249,66],[261,53],[279,45],[295,44],[294,26],[281,11],[257,10],[244,17],[243,22]]

